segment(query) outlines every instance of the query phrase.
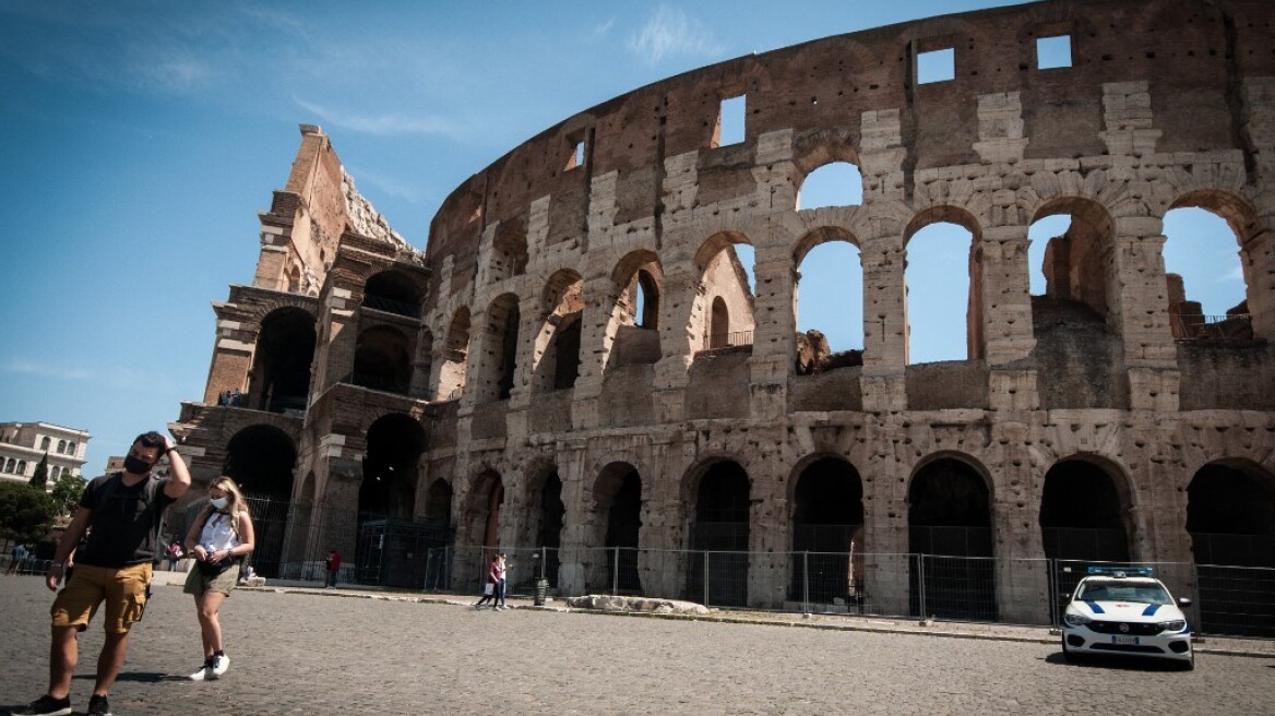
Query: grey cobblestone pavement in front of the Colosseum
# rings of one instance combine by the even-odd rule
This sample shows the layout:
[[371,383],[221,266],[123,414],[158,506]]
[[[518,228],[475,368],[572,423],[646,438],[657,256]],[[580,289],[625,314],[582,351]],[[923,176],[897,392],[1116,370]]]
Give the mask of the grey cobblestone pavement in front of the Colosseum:
[[[166,678],[201,661],[193,600],[158,587],[111,706],[119,715],[1275,712],[1275,655],[1201,654],[1191,673],[1074,666],[1044,629],[972,627],[968,636],[984,638],[941,638],[890,633],[904,624],[889,620],[861,624],[882,633],[748,623],[774,615],[634,619],[354,596],[237,591],[222,609],[229,671],[194,683]],[[43,692],[51,600],[37,577],[0,577],[0,712]],[[99,624],[82,642],[79,710]]]

